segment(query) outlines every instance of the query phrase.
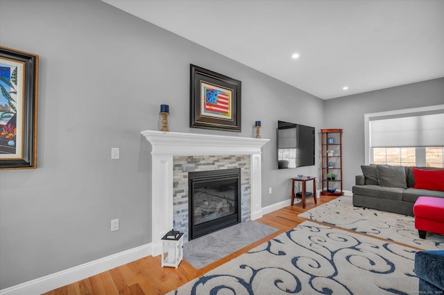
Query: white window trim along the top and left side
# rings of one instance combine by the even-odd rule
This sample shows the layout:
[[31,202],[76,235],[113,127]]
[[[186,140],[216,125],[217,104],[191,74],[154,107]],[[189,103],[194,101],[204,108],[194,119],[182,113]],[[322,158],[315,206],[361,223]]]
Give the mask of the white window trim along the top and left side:
[[370,120],[382,116],[398,116],[400,114],[414,114],[423,111],[438,111],[440,109],[444,110],[444,105],[432,105],[429,107],[416,107],[413,109],[398,109],[395,111],[364,114],[364,155],[366,165],[370,164]]

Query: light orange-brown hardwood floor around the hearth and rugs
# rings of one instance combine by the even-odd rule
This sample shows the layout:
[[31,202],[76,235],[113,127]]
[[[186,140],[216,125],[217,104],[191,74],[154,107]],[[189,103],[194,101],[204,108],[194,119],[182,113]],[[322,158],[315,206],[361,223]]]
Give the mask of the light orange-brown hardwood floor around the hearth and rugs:
[[250,249],[259,246],[259,244],[293,229],[305,221],[305,219],[298,217],[298,214],[329,202],[332,199],[335,199],[335,197],[321,196],[316,205],[313,199],[307,199],[307,206],[304,209],[302,209],[302,204],[298,203],[264,215],[264,217],[256,221],[273,226],[279,229],[279,231],[202,269],[195,269],[186,260],[180,262],[178,269],[161,267],[160,256],[148,256],[96,276],[85,278],[71,285],[60,287],[46,294],[165,294],[246,253]]

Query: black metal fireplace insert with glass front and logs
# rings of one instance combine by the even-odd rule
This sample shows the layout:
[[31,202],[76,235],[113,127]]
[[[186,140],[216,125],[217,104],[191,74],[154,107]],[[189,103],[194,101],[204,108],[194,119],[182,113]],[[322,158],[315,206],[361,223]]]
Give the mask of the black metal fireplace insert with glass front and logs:
[[241,222],[241,170],[189,172],[189,240]]

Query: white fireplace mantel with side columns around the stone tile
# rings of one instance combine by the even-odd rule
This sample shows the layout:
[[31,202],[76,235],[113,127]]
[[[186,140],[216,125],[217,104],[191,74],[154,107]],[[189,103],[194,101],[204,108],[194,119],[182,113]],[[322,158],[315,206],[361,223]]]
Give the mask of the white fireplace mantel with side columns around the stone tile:
[[262,217],[262,147],[264,138],[220,136],[182,132],[142,131],[151,143],[152,163],[152,255],[162,253],[165,233],[173,228],[173,157],[250,154],[250,218]]

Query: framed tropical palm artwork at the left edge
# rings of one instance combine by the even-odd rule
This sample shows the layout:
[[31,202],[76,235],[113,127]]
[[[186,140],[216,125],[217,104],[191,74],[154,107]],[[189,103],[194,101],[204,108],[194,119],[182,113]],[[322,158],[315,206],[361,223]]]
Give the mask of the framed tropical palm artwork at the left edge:
[[0,46],[0,170],[36,167],[38,61]]

